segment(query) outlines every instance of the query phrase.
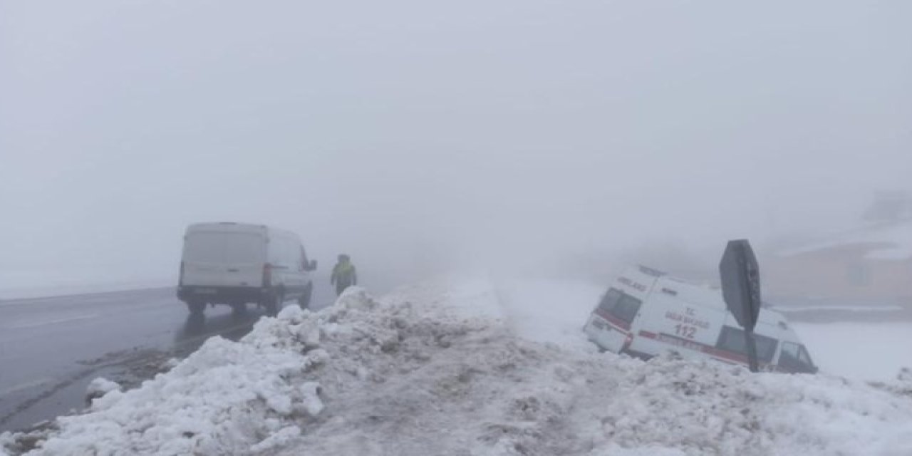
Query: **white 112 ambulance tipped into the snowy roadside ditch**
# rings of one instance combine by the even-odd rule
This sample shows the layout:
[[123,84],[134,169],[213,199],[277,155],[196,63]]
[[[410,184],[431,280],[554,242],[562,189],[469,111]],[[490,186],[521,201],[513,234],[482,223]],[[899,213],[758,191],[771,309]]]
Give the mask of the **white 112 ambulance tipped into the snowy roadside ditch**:
[[[748,364],[744,331],[720,290],[648,267],[632,267],[620,275],[592,311],[584,331],[598,347],[638,358],[674,350],[684,358]],[[754,334],[762,370],[817,371],[782,314],[761,308]]]

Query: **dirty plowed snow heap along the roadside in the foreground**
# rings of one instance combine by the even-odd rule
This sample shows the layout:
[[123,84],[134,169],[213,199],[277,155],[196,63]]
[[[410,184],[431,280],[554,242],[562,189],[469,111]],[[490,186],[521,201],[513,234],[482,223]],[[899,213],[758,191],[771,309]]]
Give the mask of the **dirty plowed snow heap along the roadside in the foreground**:
[[110,389],[28,454],[912,454],[912,382],[543,345],[503,324],[492,290],[352,289],[316,313],[286,308]]

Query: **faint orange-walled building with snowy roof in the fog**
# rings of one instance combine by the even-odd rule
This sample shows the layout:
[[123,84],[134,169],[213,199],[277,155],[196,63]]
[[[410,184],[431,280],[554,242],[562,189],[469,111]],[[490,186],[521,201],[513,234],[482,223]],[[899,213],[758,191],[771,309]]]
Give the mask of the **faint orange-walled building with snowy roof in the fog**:
[[772,255],[764,271],[780,301],[912,305],[912,195],[882,192],[861,227]]

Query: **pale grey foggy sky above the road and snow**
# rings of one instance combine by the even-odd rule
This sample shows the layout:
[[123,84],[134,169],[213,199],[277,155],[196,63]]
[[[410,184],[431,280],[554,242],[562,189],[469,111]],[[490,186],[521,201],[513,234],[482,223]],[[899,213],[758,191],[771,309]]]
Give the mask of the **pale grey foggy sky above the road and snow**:
[[0,275],[171,277],[202,221],[374,270],[825,232],[912,189],[909,17],[0,0]]

